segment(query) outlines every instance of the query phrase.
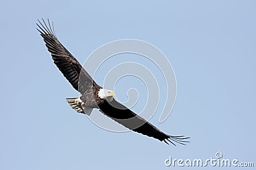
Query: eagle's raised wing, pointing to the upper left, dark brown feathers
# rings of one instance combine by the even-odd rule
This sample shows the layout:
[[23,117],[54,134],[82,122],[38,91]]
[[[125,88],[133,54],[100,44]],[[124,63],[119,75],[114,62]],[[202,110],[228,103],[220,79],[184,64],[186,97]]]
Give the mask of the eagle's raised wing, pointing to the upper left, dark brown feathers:
[[40,32],[42,38],[44,38],[45,45],[52,55],[54,64],[56,64],[74,89],[83,94],[87,89],[92,88],[92,77],[83,69],[76,58],[61,45],[60,41],[56,38],[53,25],[51,27],[49,20],[47,20],[48,25],[44,19],[42,20],[43,23],[38,20],[39,24],[36,24],[38,26],[37,30]]

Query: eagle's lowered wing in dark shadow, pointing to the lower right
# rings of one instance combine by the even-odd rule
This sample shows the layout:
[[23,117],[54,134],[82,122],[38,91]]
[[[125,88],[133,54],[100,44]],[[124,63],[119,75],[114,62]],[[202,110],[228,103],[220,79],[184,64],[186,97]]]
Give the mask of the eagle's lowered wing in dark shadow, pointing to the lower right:
[[126,108],[124,105],[118,103],[113,99],[111,102],[105,102],[99,105],[100,111],[104,115],[112,118],[119,124],[124,125],[132,131],[139,132],[141,134],[147,135],[152,138],[159,139],[159,141],[164,141],[168,144],[168,141],[175,145],[174,142],[185,145],[184,143],[188,142],[186,139],[188,137],[184,136],[170,136],[164,134],[164,132],[157,129],[154,125],[150,124],[144,118],[136,115],[133,111]]

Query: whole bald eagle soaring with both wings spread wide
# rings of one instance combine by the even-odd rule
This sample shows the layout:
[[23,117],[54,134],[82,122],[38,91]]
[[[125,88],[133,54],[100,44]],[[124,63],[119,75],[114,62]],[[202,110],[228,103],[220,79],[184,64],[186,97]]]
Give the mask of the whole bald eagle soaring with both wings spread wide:
[[60,41],[56,38],[53,24],[51,27],[49,19],[48,25],[44,19],[42,21],[43,23],[38,20],[39,24],[36,24],[38,26],[37,30],[44,39],[45,45],[52,55],[54,64],[56,64],[74,89],[81,93],[80,97],[67,98],[68,104],[74,110],[78,113],[90,115],[93,108],[99,109],[104,115],[124,125],[128,129],[158,139],[159,141],[164,141],[167,144],[168,141],[173,145],[175,145],[174,142],[182,145],[188,142],[186,141],[188,138],[184,136],[164,134],[164,132],[157,129],[154,125],[118,103],[114,99],[115,93],[113,90],[103,89],[100,85],[97,85],[75,57],[61,45]]

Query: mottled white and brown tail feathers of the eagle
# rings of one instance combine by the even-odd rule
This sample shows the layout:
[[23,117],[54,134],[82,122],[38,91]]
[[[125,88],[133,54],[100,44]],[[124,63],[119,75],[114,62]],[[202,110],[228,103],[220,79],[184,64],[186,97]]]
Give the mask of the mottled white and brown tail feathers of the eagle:
[[86,107],[80,97],[76,98],[66,98],[68,104],[72,109],[76,110],[78,113],[86,113],[90,115],[92,113],[92,108]]

